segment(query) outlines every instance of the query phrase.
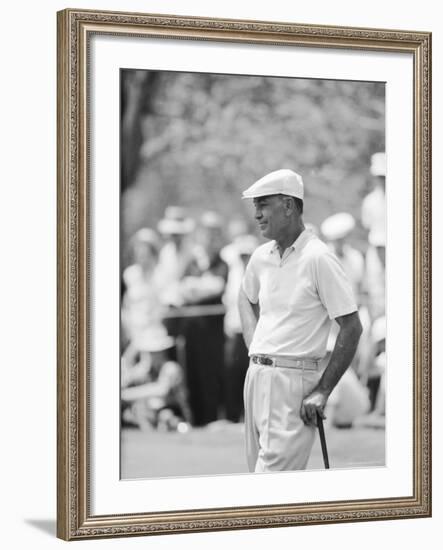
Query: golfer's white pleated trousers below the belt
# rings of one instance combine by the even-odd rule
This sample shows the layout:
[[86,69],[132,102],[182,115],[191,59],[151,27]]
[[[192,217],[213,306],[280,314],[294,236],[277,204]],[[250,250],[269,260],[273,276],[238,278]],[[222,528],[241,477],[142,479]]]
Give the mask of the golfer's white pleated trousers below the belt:
[[249,363],[244,401],[250,472],[306,468],[315,427],[304,424],[300,407],[320,375],[316,370]]

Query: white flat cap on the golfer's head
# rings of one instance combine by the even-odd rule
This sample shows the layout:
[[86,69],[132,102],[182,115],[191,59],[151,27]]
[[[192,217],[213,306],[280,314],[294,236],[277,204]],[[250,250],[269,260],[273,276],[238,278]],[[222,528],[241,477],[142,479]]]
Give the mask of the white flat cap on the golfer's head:
[[254,199],[267,195],[289,195],[303,200],[303,180],[292,170],[282,168],[263,176],[246,191],[242,199]]

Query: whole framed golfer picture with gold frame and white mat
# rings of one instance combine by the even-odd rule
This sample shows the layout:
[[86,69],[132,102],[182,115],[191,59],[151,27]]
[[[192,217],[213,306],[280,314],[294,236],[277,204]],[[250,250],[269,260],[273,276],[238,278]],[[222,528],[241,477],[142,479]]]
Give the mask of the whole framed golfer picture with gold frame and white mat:
[[57,68],[58,536],[430,516],[430,33],[69,9]]

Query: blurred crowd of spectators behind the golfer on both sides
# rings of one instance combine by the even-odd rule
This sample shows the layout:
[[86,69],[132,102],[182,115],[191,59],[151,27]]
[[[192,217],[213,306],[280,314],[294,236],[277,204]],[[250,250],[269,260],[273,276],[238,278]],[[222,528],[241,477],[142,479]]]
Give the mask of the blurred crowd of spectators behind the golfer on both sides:
[[[364,327],[356,357],[328,401],[327,422],[341,428],[384,426],[384,153],[372,156],[370,173],[373,190],[362,202],[360,219],[339,212],[319,227],[305,224],[340,259]],[[359,248],[351,244],[357,224],[367,234]],[[168,206],[155,228],[133,235],[121,289],[123,423],[184,432],[243,419],[248,353],[237,295],[259,244],[246,220],[227,221],[216,211],[192,218],[179,206]],[[325,365],[338,333],[335,325]]]

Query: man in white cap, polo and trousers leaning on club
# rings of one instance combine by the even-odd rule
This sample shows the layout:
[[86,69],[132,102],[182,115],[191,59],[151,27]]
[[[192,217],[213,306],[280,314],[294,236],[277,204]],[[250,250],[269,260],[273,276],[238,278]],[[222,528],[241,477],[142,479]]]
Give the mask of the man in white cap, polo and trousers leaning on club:
[[[246,454],[255,472],[305,469],[317,412],[350,365],[362,331],[352,288],[337,257],[303,224],[303,181],[277,170],[243,193],[263,237],[239,294],[249,349],[244,387]],[[334,320],[339,333],[323,373]]]

